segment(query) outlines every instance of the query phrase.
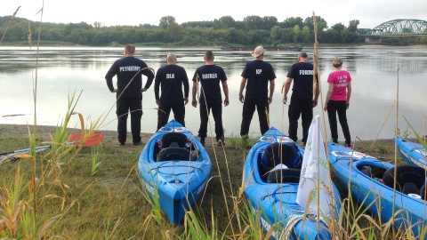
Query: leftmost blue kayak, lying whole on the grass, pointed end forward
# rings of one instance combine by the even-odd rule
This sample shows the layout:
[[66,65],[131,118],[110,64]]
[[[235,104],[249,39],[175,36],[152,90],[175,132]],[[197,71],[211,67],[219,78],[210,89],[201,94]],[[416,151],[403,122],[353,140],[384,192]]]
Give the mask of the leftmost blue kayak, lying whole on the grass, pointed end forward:
[[211,168],[205,148],[175,120],[149,139],[138,161],[144,188],[173,226],[203,194]]

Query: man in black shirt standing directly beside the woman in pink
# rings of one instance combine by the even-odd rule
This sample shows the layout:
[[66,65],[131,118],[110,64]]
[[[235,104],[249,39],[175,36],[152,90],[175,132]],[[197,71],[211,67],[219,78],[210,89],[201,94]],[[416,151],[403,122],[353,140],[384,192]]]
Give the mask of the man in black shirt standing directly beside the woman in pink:
[[[317,77],[316,77],[317,78]],[[316,93],[313,99],[313,65],[309,62],[306,52],[298,54],[298,62],[294,63],[287,73],[285,82],[285,93],[283,103],[286,104],[287,92],[292,88],[291,103],[289,104],[289,138],[296,141],[298,130],[298,119],[302,118],[302,144],[305,147],[309,137],[311,120],[313,119],[313,108],[318,106],[318,82],[316,81]]]

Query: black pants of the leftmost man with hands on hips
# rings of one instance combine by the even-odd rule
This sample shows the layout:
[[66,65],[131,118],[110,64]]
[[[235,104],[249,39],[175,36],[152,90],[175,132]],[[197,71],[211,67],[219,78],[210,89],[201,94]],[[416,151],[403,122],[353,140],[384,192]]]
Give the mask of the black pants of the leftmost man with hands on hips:
[[118,141],[126,142],[127,116],[131,112],[131,131],[133,142],[141,141],[142,98],[121,97],[117,100]]

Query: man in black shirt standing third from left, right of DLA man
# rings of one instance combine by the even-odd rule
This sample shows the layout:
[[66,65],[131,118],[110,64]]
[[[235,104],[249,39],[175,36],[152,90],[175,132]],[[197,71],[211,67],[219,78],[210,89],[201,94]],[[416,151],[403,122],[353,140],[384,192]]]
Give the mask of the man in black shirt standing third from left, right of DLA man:
[[214,52],[205,52],[205,65],[196,69],[193,76],[193,100],[191,104],[194,108],[197,108],[197,84],[201,83],[200,91],[200,128],[198,130],[198,136],[200,142],[205,146],[205,137],[207,136],[207,121],[209,114],[212,109],[212,115],[215,121],[215,134],[216,141],[219,146],[223,145],[224,142],[224,131],[222,128],[222,96],[221,87],[225,95],[224,106],[227,107],[229,101],[229,86],[227,84],[227,76],[225,75],[224,69],[214,64]]

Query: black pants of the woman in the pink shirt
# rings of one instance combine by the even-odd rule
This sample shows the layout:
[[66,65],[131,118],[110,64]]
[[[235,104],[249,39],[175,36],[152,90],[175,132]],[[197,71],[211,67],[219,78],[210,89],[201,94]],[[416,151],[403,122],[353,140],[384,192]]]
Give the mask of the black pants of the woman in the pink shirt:
[[327,102],[327,118],[329,119],[329,128],[331,129],[332,141],[338,143],[338,127],[336,124],[336,114],[342,127],[345,144],[351,145],[349,124],[347,123],[347,101],[329,100]]

